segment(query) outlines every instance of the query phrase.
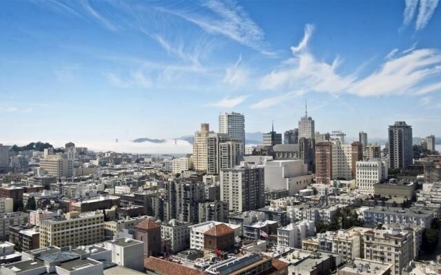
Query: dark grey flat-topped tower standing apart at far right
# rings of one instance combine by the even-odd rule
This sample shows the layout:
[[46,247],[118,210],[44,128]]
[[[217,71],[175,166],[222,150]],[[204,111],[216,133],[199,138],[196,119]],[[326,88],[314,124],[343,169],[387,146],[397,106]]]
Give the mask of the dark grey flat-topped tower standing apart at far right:
[[406,168],[412,164],[412,126],[397,121],[389,126],[389,168]]

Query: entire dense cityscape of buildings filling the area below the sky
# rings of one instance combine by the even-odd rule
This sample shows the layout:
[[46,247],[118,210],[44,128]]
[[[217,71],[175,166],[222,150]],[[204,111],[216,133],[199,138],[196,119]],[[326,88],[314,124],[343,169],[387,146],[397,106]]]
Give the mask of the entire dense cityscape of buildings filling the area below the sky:
[[435,136],[314,124],[249,146],[220,113],[183,157],[0,144],[1,274],[437,274]]

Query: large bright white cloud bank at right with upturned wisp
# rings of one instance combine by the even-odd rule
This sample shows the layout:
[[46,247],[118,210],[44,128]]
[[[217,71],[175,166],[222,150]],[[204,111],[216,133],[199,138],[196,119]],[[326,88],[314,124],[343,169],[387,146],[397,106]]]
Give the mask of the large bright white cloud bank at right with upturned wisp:
[[[311,32],[305,31],[302,41],[309,39]],[[305,43],[302,48],[306,45]],[[260,79],[260,88],[276,91],[302,89],[357,96],[418,94],[437,89],[441,83],[439,78],[434,77],[441,72],[441,54],[437,50],[415,50],[411,47],[399,56],[397,52],[398,50],[390,52],[389,58],[375,72],[360,77],[356,74],[339,73],[341,61],[338,57],[327,63],[318,61],[309,51],[293,51],[291,58]]]

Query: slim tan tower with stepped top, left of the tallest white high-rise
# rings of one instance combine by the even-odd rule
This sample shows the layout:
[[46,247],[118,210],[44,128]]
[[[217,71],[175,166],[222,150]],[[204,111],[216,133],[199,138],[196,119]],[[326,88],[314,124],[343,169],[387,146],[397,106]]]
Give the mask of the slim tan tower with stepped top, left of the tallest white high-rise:
[[207,138],[209,133],[208,123],[201,123],[201,131],[194,133],[193,143],[193,165],[194,170],[206,171],[207,170]]

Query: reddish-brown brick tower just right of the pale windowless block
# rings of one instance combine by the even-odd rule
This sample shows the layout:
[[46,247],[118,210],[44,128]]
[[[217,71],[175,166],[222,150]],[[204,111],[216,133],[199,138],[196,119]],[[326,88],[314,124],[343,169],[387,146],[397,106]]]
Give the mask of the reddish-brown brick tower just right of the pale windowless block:
[[332,179],[332,143],[316,144],[316,183],[329,184]]

